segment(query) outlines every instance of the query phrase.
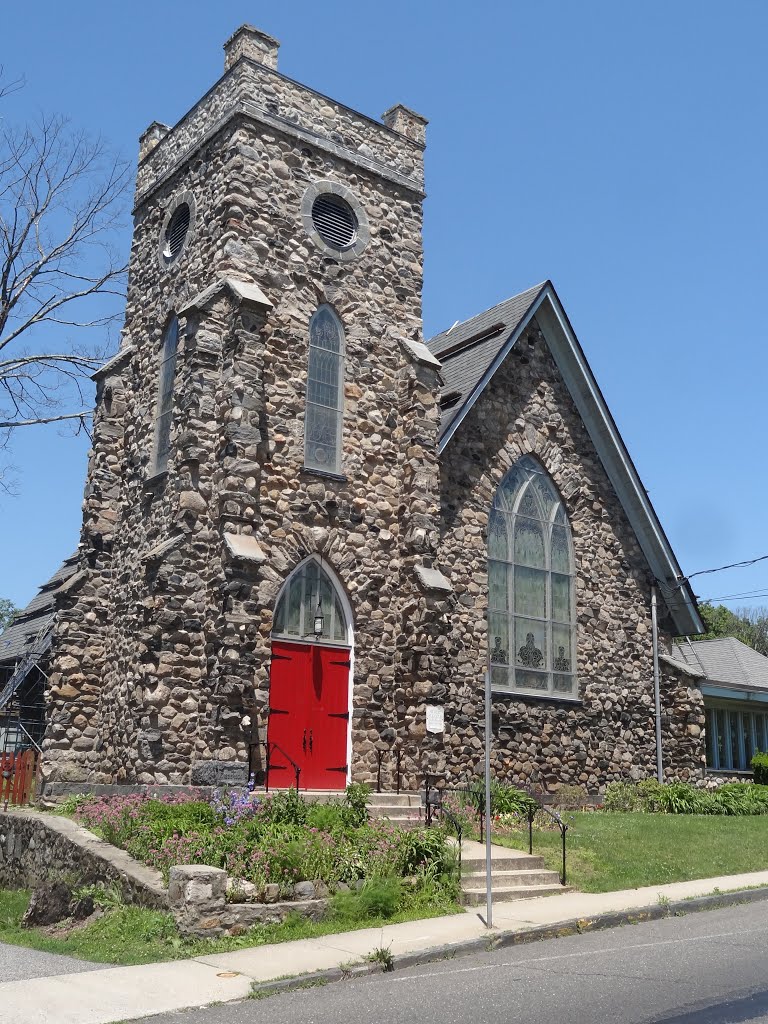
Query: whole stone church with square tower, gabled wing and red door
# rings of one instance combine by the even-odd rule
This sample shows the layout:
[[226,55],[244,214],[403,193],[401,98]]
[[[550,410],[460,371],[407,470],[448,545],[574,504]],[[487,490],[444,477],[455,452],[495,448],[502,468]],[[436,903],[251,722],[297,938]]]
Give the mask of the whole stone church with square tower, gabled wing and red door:
[[[426,121],[278,71],[250,26],[140,139],[95,375],[44,791],[597,793],[703,764],[695,600],[550,282],[422,335]],[[513,289],[510,289],[512,291]]]

